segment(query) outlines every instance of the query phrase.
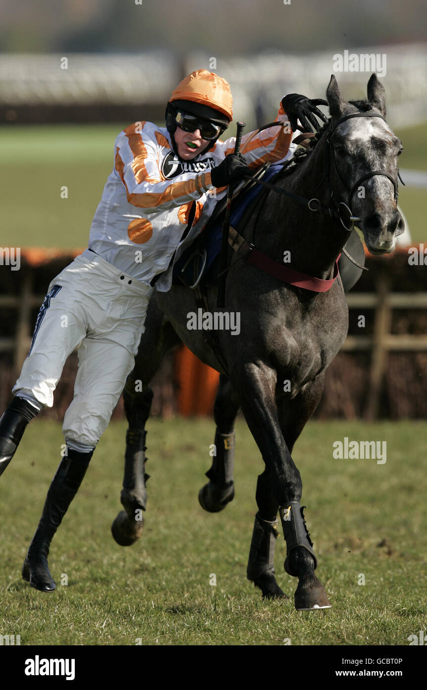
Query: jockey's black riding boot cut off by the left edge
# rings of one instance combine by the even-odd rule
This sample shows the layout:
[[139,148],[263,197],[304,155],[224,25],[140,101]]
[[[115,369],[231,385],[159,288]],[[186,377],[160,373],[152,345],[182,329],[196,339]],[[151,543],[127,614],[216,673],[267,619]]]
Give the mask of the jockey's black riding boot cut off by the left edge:
[[31,422],[37,414],[39,414],[37,408],[17,395],[1,415],[0,475],[12,460],[28,422]]

